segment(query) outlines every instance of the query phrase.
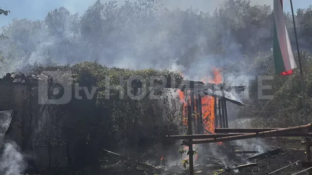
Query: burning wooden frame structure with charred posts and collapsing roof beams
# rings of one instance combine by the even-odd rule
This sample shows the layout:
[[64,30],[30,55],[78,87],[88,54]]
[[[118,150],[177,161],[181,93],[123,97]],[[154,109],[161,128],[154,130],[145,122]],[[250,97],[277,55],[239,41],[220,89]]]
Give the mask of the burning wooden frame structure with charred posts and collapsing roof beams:
[[[214,78],[208,79],[208,83],[189,81],[185,87],[178,90],[178,97],[184,105],[183,120],[187,124],[186,106],[191,105],[193,114],[194,134],[213,134],[215,128],[228,127],[228,113],[226,102],[236,105],[249,106],[231,99],[229,93],[244,91],[246,86],[226,86],[222,83],[222,76],[218,69],[214,68]],[[186,87],[188,86],[188,88]]]

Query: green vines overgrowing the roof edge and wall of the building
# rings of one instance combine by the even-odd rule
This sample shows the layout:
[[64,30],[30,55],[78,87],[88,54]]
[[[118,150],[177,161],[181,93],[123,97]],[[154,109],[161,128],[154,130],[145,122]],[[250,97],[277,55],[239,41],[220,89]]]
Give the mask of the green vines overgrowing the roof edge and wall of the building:
[[[182,106],[179,107],[179,99],[176,96],[174,97],[173,94],[168,93],[169,95],[165,95],[164,99],[159,101],[150,99],[149,95],[140,100],[133,100],[127,95],[130,86],[130,82],[127,82],[127,80],[132,75],[146,78],[146,86],[150,86],[150,77],[152,75],[161,75],[168,80],[175,80],[175,83],[179,84],[182,81],[182,76],[179,73],[169,70],[108,68],[97,62],[81,62],[73,66],[35,65],[29,66],[28,69],[35,71],[37,74],[46,74],[46,71],[71,72],[73,80],[72,100],[65,105],[43,106],[49,111],[51,118],[49,120],[54,120],[57,123],[54,123],[56,127],[59,126],[59,121],[62,121],[62,125],[59,126],[61,128],[54,129],[60,130],[67,141],[75,142],[75,147],[83,149],[84,154],[75,155],[78,160],[76,162],[78,167],[98,167],[99,163],[103,161],[104,155],[107,154],[103,152],[103,149],[116,150],[117,152],[120,152],[120,149],[128,149],[124,154],[129,154],[132,149],[131,139],[133,139],[131,128],[136,117],[139,136],[154,137],[152,142],[143,141],[142,145],[138,145],[140,151],[135,151],[137,154],[143,154],[144,151],[148,151],[150,148],[153,149],[154,144],[160,141],[159,135],[162,134],[159,132],[172,134],[178,134],[179,132],[177,126],[181,125],[179,122],[182,121],[180,117]],[[54,78],[57,79],[67,75],[60,73]],[[120,75],[125,80],[123,86],[119,86]],[[110,85],[119,86],[121,90],[118,90],[118,88],[115,90],[105,88],[105,79],[107,77],[110,78]],[[81,99],[77,98],[77,94],[75,94],[75,84],[88,89],[88,92],[80,90]],[[95,87],[96,90],[92,99],[88,99],[86,94],[91,93],[91,89]],[[120,92],[124,93],[123,99],[120,98]],[[38,89],[34,88],[33,93],[39,93]],[[107,93],[109,94],[107,95]],[[158,95],[161,94],[158,93]],[[154,111],[157,111],[157,113]],[[32,117],[35,118],[35,116],[38,115]],[[163,116],[166,116],[166,118]],[[30,117],[25,118],[29,119]],[[34,121],[27,123],[32,123],[30,127],[35,127],[38,120],[34,119]],[[25,133],[27,132],[25,131]],[[139,139],[137,138],[137,140]],[[79,158],[80,156],[81,158]]]

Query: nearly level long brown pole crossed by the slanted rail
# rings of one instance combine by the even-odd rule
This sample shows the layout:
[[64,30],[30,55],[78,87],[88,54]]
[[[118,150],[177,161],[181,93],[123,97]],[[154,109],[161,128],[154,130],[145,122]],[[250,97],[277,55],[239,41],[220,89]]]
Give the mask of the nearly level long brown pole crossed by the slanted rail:
[[[231,133],[231,134],[196,134],[196,135],[176,135],[176,136],[165,136],[165,139],[171,140],[189,140],[189,139],[214,139],[222,138],[228,136],[239,136],[248,133]],[[298,132],[298,133],[284,133],[284,134],[275,134],[272,136],[264,137],[312,137],[312,133]],[[304,141],[301,144],[306,144]]]

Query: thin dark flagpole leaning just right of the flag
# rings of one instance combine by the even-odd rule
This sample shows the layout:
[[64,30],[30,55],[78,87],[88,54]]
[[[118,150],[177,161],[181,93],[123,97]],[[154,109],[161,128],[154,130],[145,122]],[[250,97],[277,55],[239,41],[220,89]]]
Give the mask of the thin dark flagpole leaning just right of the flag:
[[[291,1],[291,7],[292,7],[292,0],[290,0],[290,1]],[[293,21],[294,35],[295,35],[295,38],[296,38],[296,45],[297,45],[297,52],[298,52],[298,59],[299,59],[299,67],[300,67],[300,78],[301,78],[301,93],[302,93],[302,103],[303,103],[303,114],[304,114],[304,119],[305,119],[305,121],[306,121],[306,124],[308,124],[307,107],[306,107],[306,98],[305,98],[305,87],[304,87],[303,73],[302,73],[302,67],[301,67],[301,58],[300,58],[300,52],[299,52],[299,46],[298,46],[298,39],[297,39],[296,24],[295,24],[295,22],[294,22],[293,8],[292,8],[292,21]]]

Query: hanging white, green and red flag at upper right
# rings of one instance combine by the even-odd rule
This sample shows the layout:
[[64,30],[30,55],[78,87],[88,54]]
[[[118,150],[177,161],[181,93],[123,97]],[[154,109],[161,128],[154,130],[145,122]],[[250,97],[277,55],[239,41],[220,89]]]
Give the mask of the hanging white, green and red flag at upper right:
[[274,0],[273,57],[276,74],[290,75],[292,74],[292,70],[297,68],[286,29],[283,0]]

